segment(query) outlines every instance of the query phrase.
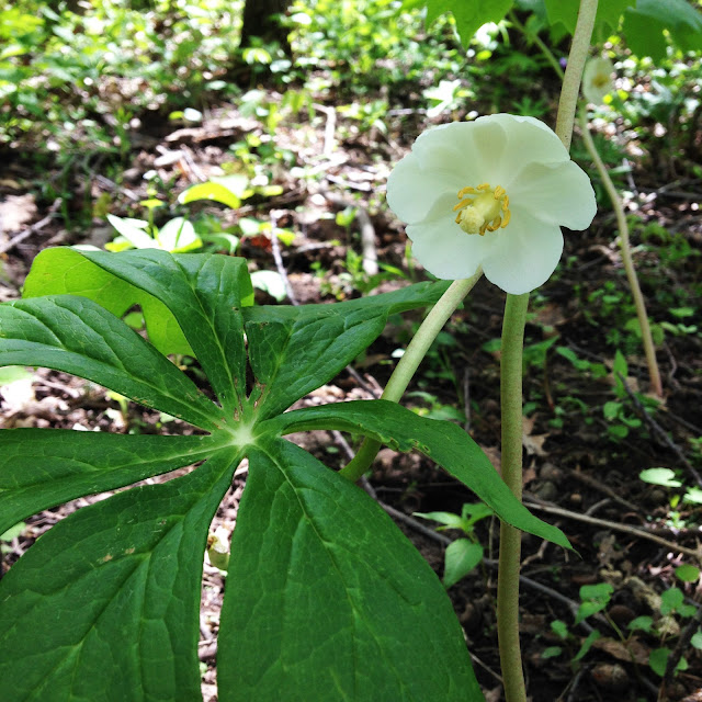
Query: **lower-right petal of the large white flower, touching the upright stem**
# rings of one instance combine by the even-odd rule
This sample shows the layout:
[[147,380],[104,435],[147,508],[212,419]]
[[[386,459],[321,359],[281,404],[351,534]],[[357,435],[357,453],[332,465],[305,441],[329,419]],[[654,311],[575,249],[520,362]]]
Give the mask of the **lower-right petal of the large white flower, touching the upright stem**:
[[555,271],[563,253],[559,227],[544,224],[529,211],[519,208],[512,211],[508,227],[495,234],[497,237],[483,261],[483,271],[490,283],[506,293],[529,293]]

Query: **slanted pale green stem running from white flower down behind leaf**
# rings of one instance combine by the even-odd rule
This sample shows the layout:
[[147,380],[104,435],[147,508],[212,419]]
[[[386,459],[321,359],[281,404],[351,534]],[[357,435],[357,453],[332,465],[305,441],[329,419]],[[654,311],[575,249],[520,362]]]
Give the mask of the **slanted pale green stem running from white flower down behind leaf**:
[[[451,317],[463,298],[473,290],[473,286],[482,275],[483,269],[478,268],[472,278],[451,283],[439,302],[429,310],[417,333],[412,337],[403,358],[395,366],[381,399],[387,399],[393,403],[400,400],[412,375],[415,375],[422,359],[427,355],[427,351],[429,351],[437,335],[443,329],[449,317]],[[380,441],[366,437],[355,457],[341,468],[339,474],[349,480],[358,480],[371,467],[380,448]]]

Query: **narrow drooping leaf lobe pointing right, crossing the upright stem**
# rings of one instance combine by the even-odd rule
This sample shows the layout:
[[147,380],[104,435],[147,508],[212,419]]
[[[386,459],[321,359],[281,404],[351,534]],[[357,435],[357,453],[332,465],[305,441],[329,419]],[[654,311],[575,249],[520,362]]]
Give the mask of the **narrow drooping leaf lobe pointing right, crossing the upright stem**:
[[505,485],[489,458],[463,429],[446,421],[419,417],[387,400],[337,403],[285,412],[261,431],[292,433],[306,429],[337,429],[372,437],[395,451],[419,451],[471,488],[503,521],[565,548],[565,534],[534,517]]

